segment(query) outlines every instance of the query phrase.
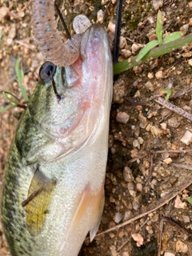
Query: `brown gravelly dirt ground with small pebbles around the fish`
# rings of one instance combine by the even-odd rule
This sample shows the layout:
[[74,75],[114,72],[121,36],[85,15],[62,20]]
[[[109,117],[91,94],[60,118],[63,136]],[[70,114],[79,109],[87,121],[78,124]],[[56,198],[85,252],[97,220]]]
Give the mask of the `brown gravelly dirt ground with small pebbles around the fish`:
[[[119,61],[138,54],[141,46],[154,37],[158,12],[154,8],[161,2],[164,33],[192,32],[192,2],[124,1]],[[2,96],[3,90],[22,98],[14,71],[16,59],[22,58],[29,96],[38,81],[39,67],[45,61],[34,42],[31,5],[26,6],[27,3],[0,0],[0,108],[9,104]],[[98,22],[98,10],[102,10],[104,19],[100,22],[106,26],[113,50],[115,0],[64,3],[61,0],[58,5],[66,15],[70,30],[75,15],[86,14],[90,20]],[[98,234],[139,214],[142,218],[100,234],[94,242],[87,239],[81,255],[192,256],[192,205],[186,200],[192,196],[192,139],[181,140],[186,131],[192,135],[191,121],[182,112],[175,114],[150,100],[162,89],[172,86],[177,94],[170,102],[192,114],[191,48],[192,44],[174,50],[115,77],[106,203]],[[0,116],[1,186],[10,142],[22,111],[14,108]],[[158,249],[160,241],[161,250]],[[6,255],[10,254],[0,225],[0,256]]]

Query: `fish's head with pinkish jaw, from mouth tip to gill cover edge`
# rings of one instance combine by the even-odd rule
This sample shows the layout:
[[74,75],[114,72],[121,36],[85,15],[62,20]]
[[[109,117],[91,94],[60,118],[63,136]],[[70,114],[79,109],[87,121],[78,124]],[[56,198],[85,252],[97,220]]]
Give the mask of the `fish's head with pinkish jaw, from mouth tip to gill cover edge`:
[[[27,162],[61,158],[98,136],[102,118],[109,115],[112,70],[106,31],[102,26],[90,26],[82,36],[78,60],[71,66],[55,67],[53,79],[41,80],[34,90],[28,110],[39,128],[37,138],[31,139]],[[43,142],[39,133],[44,134]]]

